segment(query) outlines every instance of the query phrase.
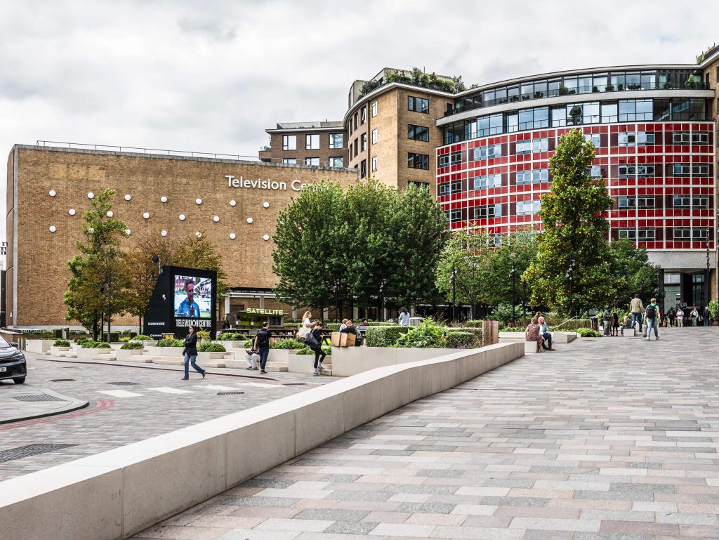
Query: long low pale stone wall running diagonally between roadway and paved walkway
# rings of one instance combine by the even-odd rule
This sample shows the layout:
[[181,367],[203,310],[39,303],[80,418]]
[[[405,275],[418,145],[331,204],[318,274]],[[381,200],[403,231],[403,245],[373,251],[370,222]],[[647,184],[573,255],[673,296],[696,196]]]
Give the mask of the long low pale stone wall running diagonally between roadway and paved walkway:
[[522,355],[521,343],[508,343],[380,367],[11,478],[0,482],[2,537],[126,539],[345,431]]

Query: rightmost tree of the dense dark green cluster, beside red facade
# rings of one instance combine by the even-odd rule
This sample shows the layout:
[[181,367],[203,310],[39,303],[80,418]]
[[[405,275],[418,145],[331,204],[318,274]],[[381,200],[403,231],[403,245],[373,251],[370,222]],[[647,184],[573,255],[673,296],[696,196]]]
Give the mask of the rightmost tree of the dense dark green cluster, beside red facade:
[[445,242],[446,216],[427,188],[408,186],[393,195],[385,226],[390,238],[389,257],[383,261],[385,292],[398,306],[433,303],[439,293],[434,276]]

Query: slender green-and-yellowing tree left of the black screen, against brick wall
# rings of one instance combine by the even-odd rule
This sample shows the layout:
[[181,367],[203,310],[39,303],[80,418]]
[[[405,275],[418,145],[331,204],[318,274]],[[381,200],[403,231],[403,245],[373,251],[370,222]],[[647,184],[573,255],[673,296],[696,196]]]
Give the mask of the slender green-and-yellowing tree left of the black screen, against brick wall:
[[119,249],[127,226],[112,216],[114,194],[104,189],[91,199],[91,209],[83,214],[83,239],[75,242],[80,255],[68,262],[72,275],[65,293],[65,319],[80,322],[95,339],[99,321],[106,317],[109,335],[112,316],[124,313],[127,301],[124,255]]

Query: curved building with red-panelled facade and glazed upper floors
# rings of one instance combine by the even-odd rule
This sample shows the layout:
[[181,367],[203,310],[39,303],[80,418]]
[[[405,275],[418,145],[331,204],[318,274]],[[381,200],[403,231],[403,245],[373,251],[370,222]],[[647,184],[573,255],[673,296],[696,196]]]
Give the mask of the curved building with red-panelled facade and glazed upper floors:
[[439,118],[437,198],[451,229],[541,229],[549,158],[582,129],[595,145],[589,173],[614,208],[610,241],[646,247],[664,273],[664,305],[716,298],[719,47],[694,65],[633,65],[532,75],[454,96]]

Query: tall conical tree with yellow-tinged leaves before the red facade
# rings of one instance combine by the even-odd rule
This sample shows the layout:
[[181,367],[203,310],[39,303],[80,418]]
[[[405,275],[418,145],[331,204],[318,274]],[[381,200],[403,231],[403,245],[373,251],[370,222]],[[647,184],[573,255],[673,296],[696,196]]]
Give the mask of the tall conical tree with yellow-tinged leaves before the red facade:
[[592,143],[580,129],[572,129],[559,139],[549,160],[551,191],[542,196],[539,211],[544,231],[537,239],[537,259],[522,280],[534,285],[533,303],[554,311],[569,311],[572,261],[572,306],[601,306],[613,296],[605,217],[612,198],[603,178],[590,178],[587,168],[594,157]]

